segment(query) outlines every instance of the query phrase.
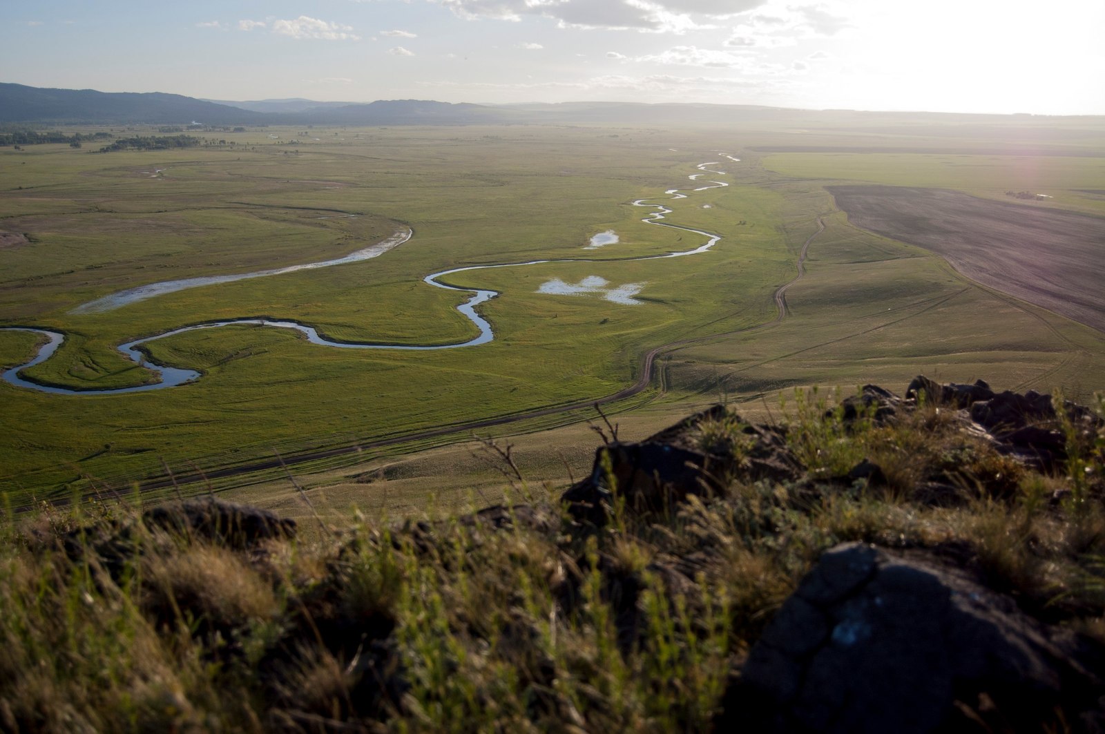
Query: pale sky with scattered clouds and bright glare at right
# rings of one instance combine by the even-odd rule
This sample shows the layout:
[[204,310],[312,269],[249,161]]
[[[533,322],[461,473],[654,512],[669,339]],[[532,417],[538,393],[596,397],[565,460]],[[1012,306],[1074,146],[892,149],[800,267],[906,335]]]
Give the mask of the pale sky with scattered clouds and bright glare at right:
[[0,82],[1102,115],[1103,35],[1105,0],[4,0]]

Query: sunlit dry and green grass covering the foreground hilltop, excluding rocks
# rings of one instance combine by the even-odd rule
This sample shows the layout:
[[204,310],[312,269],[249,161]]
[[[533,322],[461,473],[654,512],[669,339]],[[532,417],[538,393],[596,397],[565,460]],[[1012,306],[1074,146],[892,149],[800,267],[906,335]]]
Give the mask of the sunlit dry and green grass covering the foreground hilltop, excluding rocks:
[[[945,407],[880,424],[833,405],[783,407],[802,480],[736,474],[651,515],[615,499],[604,527],[534,499],[509,463],[492,512],[309,541],[169,532],[119,503],[9,516],[0,727],[708,730],[804,572],[856,539],[954,548],[1030,614],[1105,639],[1105,432],[1067,427],[1065,464],[1042,474]],[[741,427],[701,426],[702,448],[739,455]],[[863,459],[877,486],[834,479]]]

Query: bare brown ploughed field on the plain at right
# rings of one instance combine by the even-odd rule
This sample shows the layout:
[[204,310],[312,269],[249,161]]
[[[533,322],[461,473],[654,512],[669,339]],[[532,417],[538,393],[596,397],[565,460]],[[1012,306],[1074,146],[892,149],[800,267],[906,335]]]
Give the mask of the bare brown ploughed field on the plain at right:
[[1105,333],[1105,219],[944,189],[825,187],[856,227]]

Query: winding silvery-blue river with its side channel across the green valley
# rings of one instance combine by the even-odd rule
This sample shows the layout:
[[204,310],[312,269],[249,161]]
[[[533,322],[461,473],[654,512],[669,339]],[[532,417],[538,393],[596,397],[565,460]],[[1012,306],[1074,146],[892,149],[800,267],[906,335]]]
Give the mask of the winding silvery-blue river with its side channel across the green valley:
[[[722,155],[724,155],[724,154],[722,154]],[[729,160],[734,160],[734,161],[738,160],[737,158],[733,158],[732,156],[724,156],[724,157],[728,158]],[[728,184],[726,184],[725,181],[713,181],[713,180],[708,180],[708,179],[706,181],[699,181],[698,180],[698,179],[705,177],[707,174],[714,174],[714,175],[717,175],[717,176],[725,176],[726,175],[725,171],[723,171],[723,170],[716,170],[714,168],[711,168],[711,166],[716,166],[716,165],[717,165],[717,161],[713,161],[713,162],[699,164],[697,166],[697,169],[701,172],[693,174],[688,178],[692,181],[696,182],[696,184],[704,182],[706,185],[692,189],[692,192],[705,191],[707,189],[715,189],[715,188],[720,188],[720,187],[728,186]],[[669,189],[667,191],[665,191],[665,193],[667,193],[671,197],[671,199],[673,199],[673,200],[687,198],[687,195],[683,193],[680,189]],[[312,344],[318,344],[318,345],[323,345],[323,346],[336,347],[336,348],[341,348],[341,349],[431,350],[431,349],[457,349],[457,348],[461,348],[461,347],[474,347],[474,346],[478,346],[481,344],[487,344],[488,342],[491,342],[491,340],[493,340],[495,338],[495,333],[492,331],[492,326],[487,322],[487,319],[485,319],[483,316],[481,316],[480,313],[476,311],[476,307],[480,304],[485,303],[486,301],[490,301],[491,298],[494,298],[495,296],[497,296],[498,292],[496,292],[496,291],[480,290],[480,289],[460,287],[460,286],[455,286],[455,285],[448,285],[446,283],[442,282],[442,279],[445,279],[449,275],[452,275],[453,273],[463,273],[463,272],[475,271],[475,270],[490,270],[490,269],[497,269],[497,268],[520,268],[520,266],[525,266],[525,265],[537,265],[537,264],[541,264],[541,263],[561,263],[561,262],[562,263],[568,263],[568,262],[608,263],[608,262],[618,262],[618,261],[625,262],[625,261],[663,260],[663,259],[666,259],[666,258],[683,258],[683,256],[687,256],[687,255],[695,255],[695,254],[701,254],[703,252],[707,252],[715,244],[717,244],[718,241],[720,241],[722,238],[719,235],[717,235],[717,234],[713,234],[713,233],[706,232],[704,230],[693,229],[693,228],[690,228],[690,227],[681,227],[678,224],[672,224],[672,223],[663,221],[667,214],[672,213],[672,210],[669,209],[667,207],[663,206],[663,205],[660,205],[660,203],[651,203],[651,201],[652,200],[650,200],[650,199],[638,199],[636,201],[633,202],[633,206],[635,206],[635,207],[645,207],[645,208],[650,208],[650,209],[654,210],[654,211],[649,212],[648,216],[645,216],[643,219],[641,219],[642,222],[644,222],[645,224],[655,224],[655,226],[659,226],[659,227],[666,227],[666,228],[680,230],[680,231],[683,231],[683,232],[691,232],[693,234],[699,234],[699,235],[706,238],[706,241],[703,244],[701,244],[699,247],[694,248],[692,250],[682,250],[682,251],[676,251],[676,252],[666,252],[666,253],[660,254],[660,255],[644,255],[644,256],[638,256],[638,258],[607,258],[607,259],[568,258],[568,259],[549,259],[549,260],[528,260],[528,261],[525,261],[525,262],[498,263],[498,264],[491,264],[491,265],[469,265],[469,266],[465,266],[465,268],[452,268],[450,270],[443,270],[443,271],[440,271],[440,272],[436,272],[436,273],[431,273],[431,274],[427,275],[425,277],[423,277],[422,279],[423,282],[425,282],[425,283],[428,283],[430,285],[433,285],[434,287],[440,287],[440,289],[445,289],[445,290],[449,290],[449,291],[459,291],[459,292],[462,292],[462,293],[470,293],[470,294],[472,294],[471,297],[467,301],[465,301],[461,305],[456,306],[456,311],[460,312],[461,314],[463,314],[469,321],[471,321],[476,326],[476,328],[480,332],[477,336],[475,336],[474,338],[469,339],[466,342],[459,342],[459,343],[455,343],[455,344],[421,345],[421,346],[420,345],[372,344],[372,343],[360,343],[360,342],[338,342],[338,340],[334,340],[334,339],[328,339],[328,338],[319,335],[318,332],[314,327],[312,327],[312,326],[307,326],[305,324],[299,324],[299,323],[293,322],[293,321],[278,321],[278,319],[271,319],[271,318],[234,318],[234,319],[229,319],[229,321],[208,322],[208,323],[203,323],[203,324],[192,324],[192,325],[189,325],[189,326],[181,326],[180,328],[175,328],[175,329],[171,329],[169,332],[162,332],[161,334],[156,334],[154,336],[147,336],[147,337],[144,337],[144,338],[140,338],[140,339],[135,339],[133,342],[127,342],[126,344],[120,344],[117,347],[118,350],[120,353],[123,353],[128,359],[131,359],[136,364],[139,364],[143,367],[145,367],[145,368],[151,370],[152,373],[155,373],[157,375],[157,377],[158,377],[158,381],[157,382],[150,382],[148,385],[140,385],[140,386],[137,386],[137,387],[125,387],[125,388],[115,388],[115,389],[98,389],[98,390],[97,389],[91,389],[91,390],[84,390],[84,389],[82,389],[82,390],[74,390],[74,389],[71,389],[71,388],[51,387],[51,386],[48,386],[48,385],[41,385],[39,382],[25,379],[25,378],[23,378],[23,377],[20,376],[20,373],[22,370],[27,369],[28,367],[33,367],[34,365],[39,365],[39,364],[45,361],[46,359],[49,359],[51,356],[53,356],[53,354],[57,350],[57,348],[64,342],[64,339],[65,339],[65,335],[64,334],[61,334],[59,332],[54,332],[54,331],[51,331],[51,329],[45,329],[45,328],[34,328],[34,327],[28,327],[28,326],[9,326],[9,327],[0,327],[0,329],[2,329],[2,331],[30,332],[30,333],[33,333],[33,334],[39,334],[42,337],[45,337],[46,340],[45,340],[45,344],[43,344],[41,347],[39,347],[38,354],[35,354],[35,356],[34,356],[33,359],[31,359],[28,363],[24,363],[22,365],[19,365],[17,367],[12,367],[11,369],[6,370],[2,374],[2,378],[3,378],[4,381],[7,381],[7,382],[9,382],[11,385],[15,385],[18,387],[28,388],[28,389],[32,389],[32,390],[39,390],[40,392],[50,392],[50,394],[54,394],[54,395],[95,396],[95,395],[119,395],[119,394],[125,394],[125,392],[144,392],[144,391],[148,391],[148,390],[162,390],[162,389],[166,389],[166,388],[176,387],[176,386],[183,385],[183,384],[187,384],[187,382],[196,381],[196,380],[198,380],[201,377],[201,375],[200,375],[200,373],[198,373],[196,370],[192,370],[192,369],[182,369],[182,368],[179,368],[179,367],[170,367],[168,365],[160,365],[160,364],[157,364],[157,363],[148,359],[146,357],[146,355],[141,350],[141,346],[143,345],[149,344],[150,342],[156,342],[157,339],[164,339],[166,337],[176,336],[177,334],[183,334],[186,332],[193,332],[193,331],[207,329],[207,328],[219,328],[220,326],[239,326],[239,325],[246,325],[246,324],[252,324],[252,325],[256,325],[256,326],[272,326],[272,327],[276,327],[276,328],[295,329],[295,331],[302,333],[304,336],[306,336],[307,340],[311,342]],[[606,234],[607,233],[602,233],[602,235],[606,235]],[[610,234],[612,235],[612,233],[610,233]],[[176,281],[165,281],[165,282],[161,282],[161,283],[150,283],[150,284],[147,284],[147,285],[140,285],[138,287],[128,289],[126,291],[119,291],[118,293],[113,293],[110,295],[106,295],[106,296],[104,296],[102,298],[97,298],[95,301],[90,301],[88,303],[82,304],[81,306],[77,306],[76,308],[74,308],[74,313],[96,313],[96,312],[112,311],[114,308],[119,308],[119,307],[127,306],[127,305],[130,305],[130,304],[134,304],[134,303],[138,303],[140,301],[145,301],[145,300],[152,298],[152,297],[156,297],[156,296],[159,296],[159,295],[164,295],[166,293],[172,293],[175,291],[181,291],[181,290],[185,290],[185,289],[199,287],[199,286],[204,286],[204,285],[215,285],[215,284],[220,284],[220,283],[229,283],[229,282],[232,282],[232,281],[245,280],[245,279],[251,279],[251,277],[265,277],[265,276],[269,276],[269,275],[280,275],[280,274],[285,274],[285,273],[293,273],[293,272],[301,271],[301,270],[312,270],[312,269],[317,269],[317,268],[330,268],[330,266],[334,266],[334,265],[344,265],[344,264],[347,264],[347,263],[360,262],[360,261],[364,261],[364,260],[368,260],[370,258],[377,258],[377,256],[383,254],[385,252],[388,252],[389,250],[391,250],[391,249],[393,249],[393,248],[402,244],[403,242],[407,242],[408,240],[410,240],[412,235],[413,235],[413,232],[411,230],[399,231],[399,232],[396,232],[393,235],[391,235],[390,238],[388,238],[386,240],[382,240],[380,242],[377,242],[376,244],[372,244],[372,245],[370,245],[368,248],[364,248],[361,250],[358,250],[356,252],[352,252],[352,253],[346,255],[345,258],[338,258],[336,260],[325,260],[325,261],[320,261],[320,262],[306,263],[306,264],[302,264],[302,265],[288,265],[286,268],[277,268],[277,269],[273,269],[273,270],[262,270],[262,271],[255,271],[255,272],[252,272],[252,273],[240,273],[240,274],[234,274],[234,275],[213,275],[213,276],[207,276],[207,277],[190,277],[190,279],[182,279],[182,280],[176,280]],[[597,235],[597,237],[602,237],[602,235]],[[614,242],[618,241],[617,237],[612,237],[612,238],[611,237],[606,237],[603,239],[604,239],[604,242],[603,242],[604,244],[612,244],[612,243],[614,243]],[[593,240],[592,240],[592,243],[593,243]],[[585,281],[587,279],[585,279]],[[638,286],[638,284],[630,284],[630,285],[631,286]],[[628,286],[622,286],[622,289],[628,289]],[[640,287],[638,287],[636,290],[640,290]],[[618,290],[615,289],[614,291],[617,292]],[[555,291],[555,290],[552,290],[552,291],[546,291],[546,292],[548,292],[548,293],[557,293],[557,291]],[[579,292],[586,292],[586,291],[579,291]],[[635,294],[635,292],[636,291],[633,291],[632,293],[630,293],[630,290],[625,290],[624,293],[620,294],[620,297],[622,297],[623,300],[620,300],[620,301],[617,300],[617,298],[610,298],[610,300],[613,300],[613,301],[615,301],[618,303],[630,303],[630,304],[638,303],[638,302],[633,301],[632,297],[631,297],[633,294]]]

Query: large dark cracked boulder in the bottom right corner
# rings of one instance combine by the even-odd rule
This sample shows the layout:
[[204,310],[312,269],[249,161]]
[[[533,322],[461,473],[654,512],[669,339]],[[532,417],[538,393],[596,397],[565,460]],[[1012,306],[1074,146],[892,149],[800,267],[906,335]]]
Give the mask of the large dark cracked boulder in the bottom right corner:
[[719,730],[1093,730],[1105,724],[1092,672],[1103,660],[1099,646],[1055,633],[935,554],[848,544],[821,557],[753,647]]

